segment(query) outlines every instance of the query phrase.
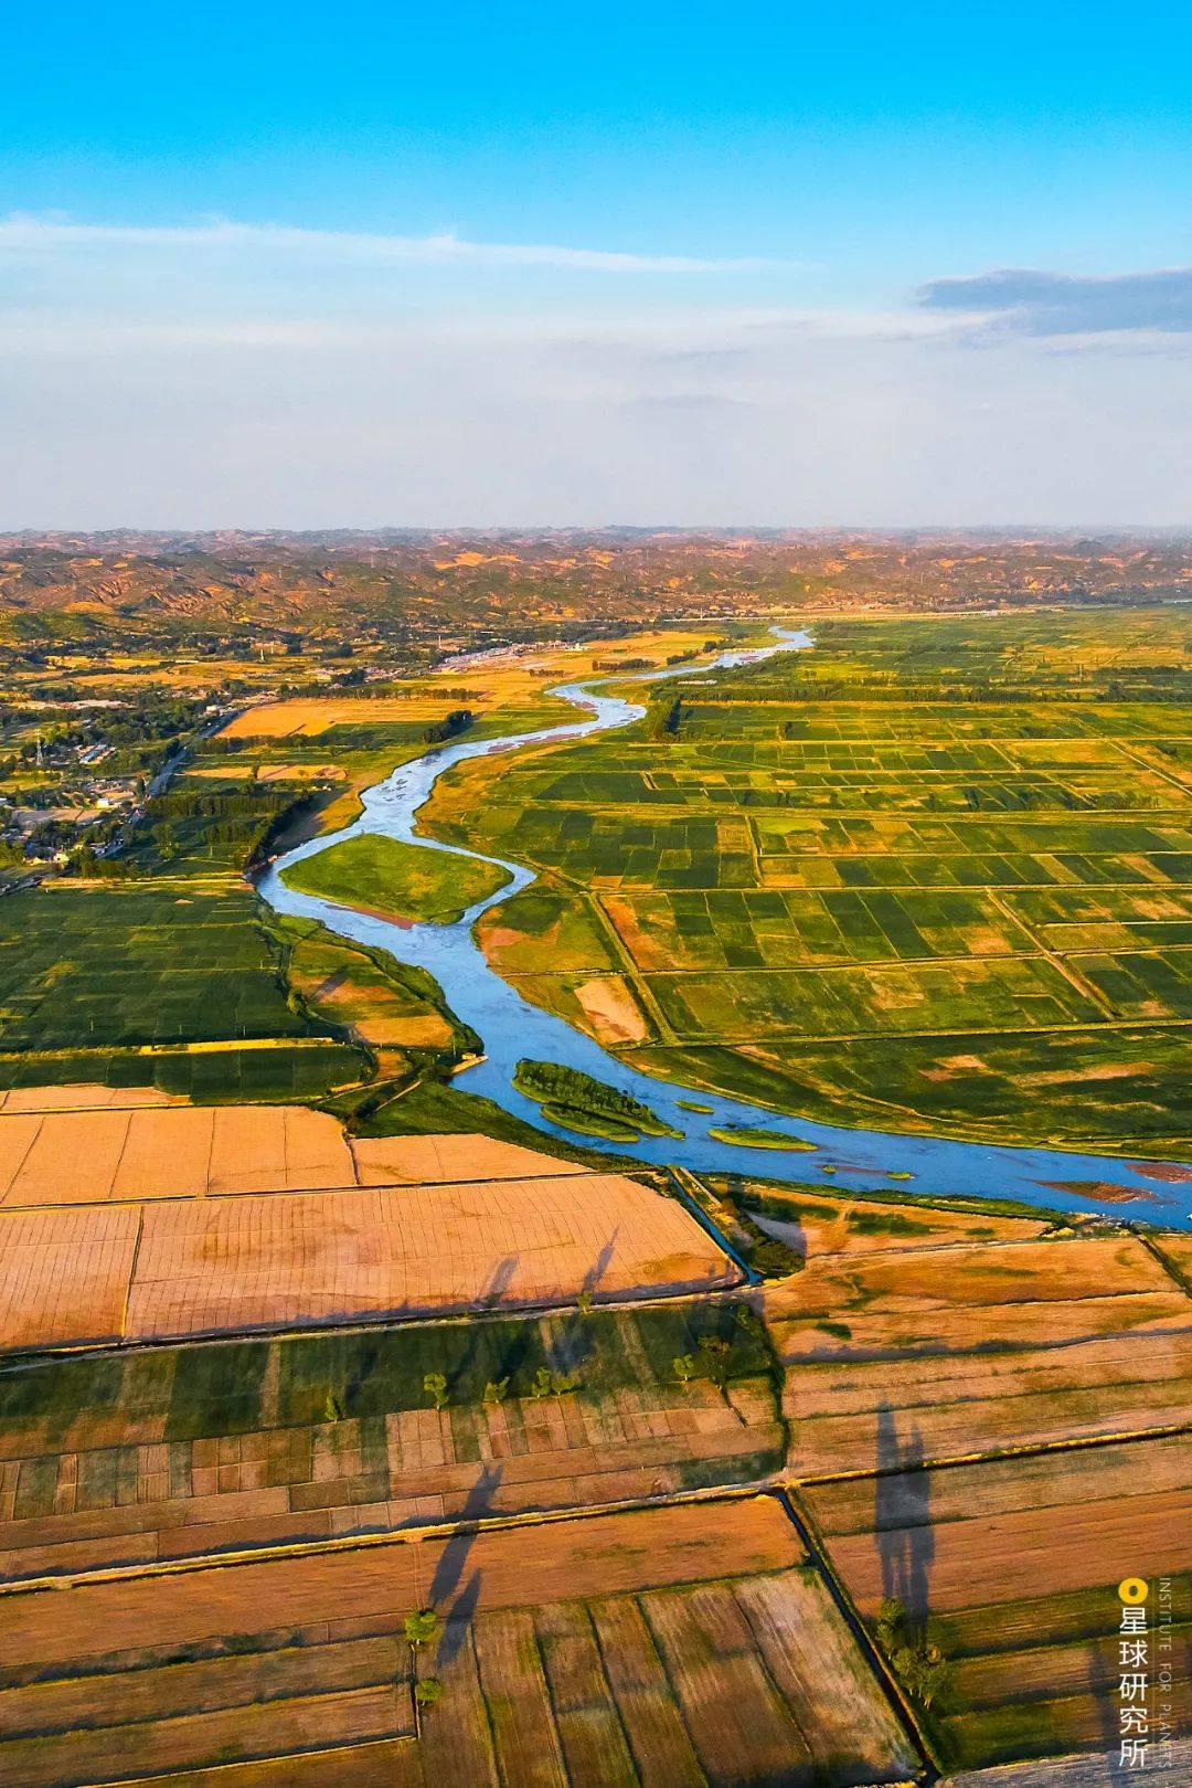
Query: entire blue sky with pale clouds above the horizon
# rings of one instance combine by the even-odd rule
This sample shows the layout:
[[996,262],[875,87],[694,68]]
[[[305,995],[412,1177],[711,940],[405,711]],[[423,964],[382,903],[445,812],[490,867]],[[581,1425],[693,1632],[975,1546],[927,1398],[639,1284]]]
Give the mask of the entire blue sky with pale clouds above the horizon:
[[164,11],[5,21],[0,526],[1192,522],[1187,7]]

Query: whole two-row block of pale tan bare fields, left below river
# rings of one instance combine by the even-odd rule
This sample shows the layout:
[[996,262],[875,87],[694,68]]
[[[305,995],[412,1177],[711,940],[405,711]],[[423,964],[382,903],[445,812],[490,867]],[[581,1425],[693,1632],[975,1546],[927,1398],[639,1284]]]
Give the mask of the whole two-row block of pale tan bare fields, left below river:
[[488,1137],[348,1144],[336,1119],[300,1107],[0,1116],[0,1341],[11,1348],[738,1278],[674,1200]]

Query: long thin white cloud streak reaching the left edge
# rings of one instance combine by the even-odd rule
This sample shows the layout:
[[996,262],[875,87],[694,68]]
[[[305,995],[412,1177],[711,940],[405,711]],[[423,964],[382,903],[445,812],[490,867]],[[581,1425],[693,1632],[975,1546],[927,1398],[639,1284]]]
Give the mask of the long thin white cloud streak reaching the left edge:
[[615,249],[574,249],[561,243],[468,241],[450,232],[388,236],[363,231],[295,229],[282,224],[206,224],[141,227],[71,224],[13,215],[0,222],[0,250],[70,254],[73,250],[227,252],[302,256],[354,266],[547,266],[595,274],[722,274],[777,263],[681,254],[624,254]]

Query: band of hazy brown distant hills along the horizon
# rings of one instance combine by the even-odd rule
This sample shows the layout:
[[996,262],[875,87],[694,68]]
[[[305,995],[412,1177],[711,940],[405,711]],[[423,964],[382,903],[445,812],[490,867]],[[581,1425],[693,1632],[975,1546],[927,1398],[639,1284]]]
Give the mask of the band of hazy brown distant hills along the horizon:
[[418,645],[792,608],[1192,595],[1192,536],[207,533],[0,536],[0,642],[325,637]]

